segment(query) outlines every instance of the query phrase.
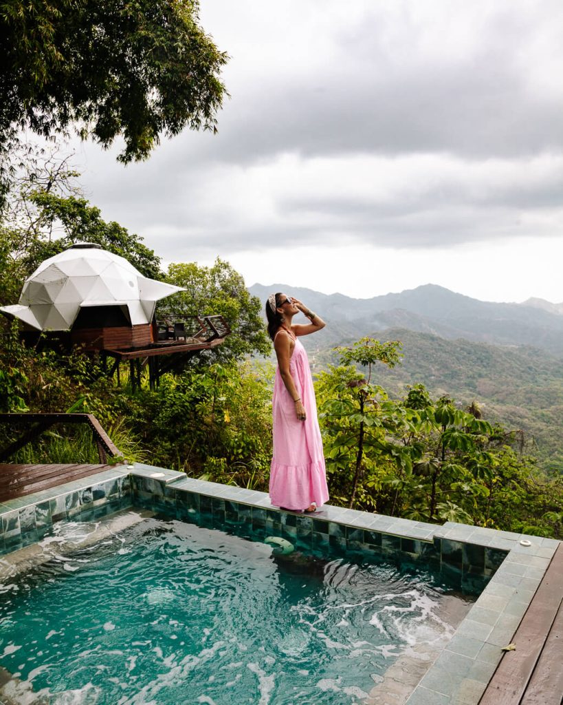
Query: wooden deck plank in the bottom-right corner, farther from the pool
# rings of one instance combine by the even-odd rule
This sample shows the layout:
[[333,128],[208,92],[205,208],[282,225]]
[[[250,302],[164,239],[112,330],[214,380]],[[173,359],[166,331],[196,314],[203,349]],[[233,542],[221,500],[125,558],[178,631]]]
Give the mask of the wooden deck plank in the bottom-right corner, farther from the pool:
[[559,705],[563,698],[563,601],[521,705]]

